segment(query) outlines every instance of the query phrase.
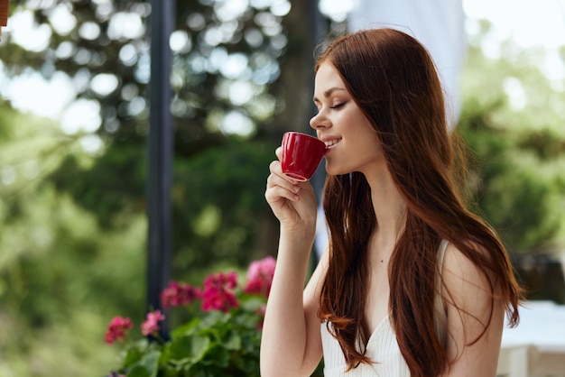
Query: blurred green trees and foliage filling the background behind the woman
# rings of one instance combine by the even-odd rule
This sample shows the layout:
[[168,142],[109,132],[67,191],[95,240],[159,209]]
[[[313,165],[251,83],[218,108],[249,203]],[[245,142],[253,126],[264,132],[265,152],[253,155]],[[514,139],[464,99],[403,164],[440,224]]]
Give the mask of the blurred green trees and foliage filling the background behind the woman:
[[[99,376],[116,365],[103,342],[111,317],[144,316],[150,8],[12,0],[10,14],[39,34],[26,45],[5,33],[2,86],[39,72],[71,83],[79,105],[55,121],[0,104],[0,376]],[[298,0],[178,1],[173,279],[199,284],[275,254],[264,179],[282,133],[307,130],[311,16]],[[491,26],[469,35],[458,130],[474,152],[477,210],[526,280],[525,257],[565,250],[565,83],[542,69],[545,51],[505,41],[486,55]],[[565,299],[530,284],[532,298]]]

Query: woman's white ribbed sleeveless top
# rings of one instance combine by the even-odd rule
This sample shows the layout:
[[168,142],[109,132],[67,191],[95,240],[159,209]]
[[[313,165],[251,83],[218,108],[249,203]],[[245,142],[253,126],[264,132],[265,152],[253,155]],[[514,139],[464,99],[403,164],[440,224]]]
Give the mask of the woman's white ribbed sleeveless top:
[[[443,266],[443,256],[448,242],[443,240],[438,250],[438,271]],[[440,295],[440,278],[438,280],[438,294],[434,306],[436,308],[436,331],[440,339],[445,342],[446,313]],[[331,325],[330,325],[331,326]],[[324,376],[325,377],[410,377],[410,370],[400,352],[393,326],[389,316],[384,317],[376,326],[366,345],[366,355],[373,360],[369,365],[361,363],[349,372],[346,359],[335,337],[329,334],[326,323],[321,324],[321,341],[324,350]]]

